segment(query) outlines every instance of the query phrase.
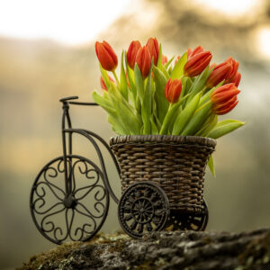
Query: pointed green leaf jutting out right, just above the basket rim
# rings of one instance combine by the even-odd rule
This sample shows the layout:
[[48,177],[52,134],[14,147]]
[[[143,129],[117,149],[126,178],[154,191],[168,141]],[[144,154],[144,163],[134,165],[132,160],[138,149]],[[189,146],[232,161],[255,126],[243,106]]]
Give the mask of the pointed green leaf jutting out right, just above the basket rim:
[[233,130],[237,130],[238,128],[242,127],[245,124],[246,122],[244,121],[231,119],[220,121],[217,123],[214,129],[211,130],[211,132],[208,134],[208,137],[212,139],[218,139]]

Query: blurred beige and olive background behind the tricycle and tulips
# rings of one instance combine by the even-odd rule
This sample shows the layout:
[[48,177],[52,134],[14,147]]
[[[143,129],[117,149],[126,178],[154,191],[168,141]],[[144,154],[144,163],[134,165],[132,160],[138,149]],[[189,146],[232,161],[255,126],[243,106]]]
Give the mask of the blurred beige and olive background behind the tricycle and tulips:
[[[24,0],[0,2],[0,268],[14,269],[55,245],[31,220],[31,184],[61,155],[61,105],[100,90],[95,40],[118,56],[131,40],[157,37],[168,58],[202,45],[213,62],[236,58],[239,103],[226,118],[247,125],[218,141],[216,178],[206,174],[207,229],[240,231],[270,226],[270,2],[268,0]],[[72,107],[75,127],[108,141],[113,132],[98,107]],[[94,157],[85,140],[76,150]],[[120,179],[104,154],[118,195]],[[103,231],[119,229],[112,202]]]

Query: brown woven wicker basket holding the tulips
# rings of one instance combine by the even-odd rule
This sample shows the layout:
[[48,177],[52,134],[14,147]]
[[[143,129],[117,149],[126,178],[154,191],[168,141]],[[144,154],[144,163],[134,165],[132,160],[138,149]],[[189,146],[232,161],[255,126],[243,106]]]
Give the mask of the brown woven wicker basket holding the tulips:
[[112,137],[110,146],[121,168],[122,192],[130,184],[148,180],[165,191],[171,210],[202,211],[205,166],[216,140],[196,136],[117,136]]

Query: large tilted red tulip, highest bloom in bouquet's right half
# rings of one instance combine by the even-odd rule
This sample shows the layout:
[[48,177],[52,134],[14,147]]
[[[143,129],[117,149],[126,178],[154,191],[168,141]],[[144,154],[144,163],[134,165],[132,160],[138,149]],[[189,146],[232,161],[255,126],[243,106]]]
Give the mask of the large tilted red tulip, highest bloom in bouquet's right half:
[[197,76],[209,65],[211,52],[203,51],[202,46],[187,50],[187,62],[184,65],[184,76]]

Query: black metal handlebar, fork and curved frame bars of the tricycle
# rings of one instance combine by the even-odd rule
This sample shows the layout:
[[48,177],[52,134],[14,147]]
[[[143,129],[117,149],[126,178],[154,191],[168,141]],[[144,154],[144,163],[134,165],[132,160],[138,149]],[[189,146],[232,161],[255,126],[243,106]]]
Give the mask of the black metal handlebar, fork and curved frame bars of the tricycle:
[[[62,144],[63,144],[63,157],[64,157],[64,168],[65,168],[65,188],[67,195],[72,193],[72,179],[70,172],[67,173],[67,158],[68,156],[72,155],[72,135],[73,133],[77,133],[79,135],[82,135],[86,139],[88,139],[92,145],[94,146],[94,149],[97,153],[101,171],[103,172],[104,176],[104,184],[109,192],[110,196],[112,197],[112,200],[116,203],[119,202],[119,199],[116,197],[116,195],[112,191],[111,184],[108,179],[106,167],[103,160],[103,154],[99,146],[97,145],[95,139],[98,139],[103,146],[108,150],[110,153],[112,160],[114,162],[114,165],[116,166],[117,172],[120,175],[120,167],[118,166],[117,160],[114,157],[111,148],[109,145],[105,142],[104,139],[102,139],[100,136],[95,134],[93,131],[90,130],[84,130],[84,129],[73,129],[71,124],[71,119],[69,115],[69,104],[76,104],[76,105],[86,105],[86,106],[97,106],[97,103],[81,103],[81,102],[68,102],[72,99],[77,99],[77,96],[71,96],[67,98],[60,99],[60,102],[63,103],[62,109],[63,109],[63,115],[62,115],[62,123],[61,123],[61,130],[62,130]],[[67,126],[66,126],[67,123]],[[93,138],[94,137],[94,138]]]

